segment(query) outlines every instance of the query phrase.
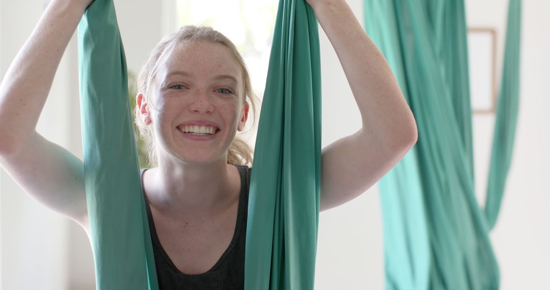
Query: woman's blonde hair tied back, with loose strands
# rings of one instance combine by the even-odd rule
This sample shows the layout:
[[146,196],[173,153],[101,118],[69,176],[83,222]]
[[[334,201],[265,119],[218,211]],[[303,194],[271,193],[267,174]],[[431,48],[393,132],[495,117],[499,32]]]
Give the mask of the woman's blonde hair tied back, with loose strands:
[[[220,32],[213,30],[211,27],[203,26],[183,26],[178,31],[169,34],[161,42],[157,44],[153,51],[149,55],[149,59],[145,62],[142,67],[138,79],[137,79],[137,89],[138,93],[142,93],[145,96],[147,104],[152,104],[149,99],[149,90],[151,88],[151,83],[153,77],[155,76],[158,68],[158,63],[160,59],[168,55],[176,44],[190,43],[194,41],[210,41],[214,43],[222,44],[227,47],[229,51],[233,54],[241,68],[243,69],[243,82],[244,82],[244,101],[250,106],[249,119],[252,119],[252,126],[254,126],[254,120],[256,118],[256,106],[258,98],[252,91],[252,85],[250,82],[250,75],[243,57],[237,51],[237,47],[229,40],[226,36]],[[153,107],[154,108],[154,107]],[[158,165],[158,159],[156,154],[156,142],[155,136],[153,135],[152,126],[146,126],[141,120],[140,108],[136,105],[135,111],[135,122],[138,126],[142,140],[147,144],[149,165],[155,167]],[[252,148],[239,136],[236,136],[233,142],[230,144],[228,153],[227,153],[227,163],[228,164],[238,164],[238,165],[252,165]]]

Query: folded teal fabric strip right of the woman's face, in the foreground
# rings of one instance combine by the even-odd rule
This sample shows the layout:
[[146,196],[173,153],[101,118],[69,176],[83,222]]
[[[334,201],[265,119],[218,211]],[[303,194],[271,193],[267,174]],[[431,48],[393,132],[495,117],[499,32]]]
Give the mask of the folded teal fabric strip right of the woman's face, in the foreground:
[[256,138],[245,289],[313,289],[321,175],[317,20],[281,0]]

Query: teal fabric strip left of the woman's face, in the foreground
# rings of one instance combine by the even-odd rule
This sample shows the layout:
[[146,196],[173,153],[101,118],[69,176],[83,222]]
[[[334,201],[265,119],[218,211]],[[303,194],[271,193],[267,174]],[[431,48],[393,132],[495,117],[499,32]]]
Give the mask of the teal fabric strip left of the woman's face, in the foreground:
[[128,74],[113,0],[95,0],[78,27],[86,202],[97,289],[158,289]]

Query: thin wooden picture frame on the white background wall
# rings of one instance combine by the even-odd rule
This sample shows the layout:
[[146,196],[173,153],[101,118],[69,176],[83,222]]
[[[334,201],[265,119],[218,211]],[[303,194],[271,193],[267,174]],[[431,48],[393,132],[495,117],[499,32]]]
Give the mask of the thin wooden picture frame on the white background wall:
[[497,31],[468,29],[468,64],[472,113],[493,114],[497,104]]

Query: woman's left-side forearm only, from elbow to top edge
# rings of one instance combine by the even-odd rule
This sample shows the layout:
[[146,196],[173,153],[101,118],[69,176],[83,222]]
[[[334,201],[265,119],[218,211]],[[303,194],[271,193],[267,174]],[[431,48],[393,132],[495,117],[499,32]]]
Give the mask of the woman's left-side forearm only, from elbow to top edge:
[[54,75],[84,9],[76,1],[53,0],[9,66],[0,84],[0,153],[17,150],[35,132]]

